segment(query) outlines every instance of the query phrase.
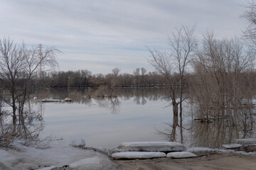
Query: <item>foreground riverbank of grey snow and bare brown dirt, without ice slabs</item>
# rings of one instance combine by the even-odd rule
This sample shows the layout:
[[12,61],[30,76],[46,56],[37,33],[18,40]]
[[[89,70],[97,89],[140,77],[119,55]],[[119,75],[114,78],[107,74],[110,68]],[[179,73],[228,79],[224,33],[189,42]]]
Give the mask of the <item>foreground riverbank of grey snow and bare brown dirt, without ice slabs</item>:
[[[48,146],[41,145],[41,147],[41,149],[36,147],[24,147],[16,142],[11,149],[0,148],[0,169],[252,170],[256,167],[255,152],[230,152],[230,150],[225,152],[223,149],[215,149],[214,152],[201,154],[201,157],[188,159],[159,158],[114,160],[106,154],[71,147],[63,141],[54,141],[48,144]],[[199,149],[202,150],[202,148],[196,150],[198,151]],[[203,149],[208,150],[206,148]]]

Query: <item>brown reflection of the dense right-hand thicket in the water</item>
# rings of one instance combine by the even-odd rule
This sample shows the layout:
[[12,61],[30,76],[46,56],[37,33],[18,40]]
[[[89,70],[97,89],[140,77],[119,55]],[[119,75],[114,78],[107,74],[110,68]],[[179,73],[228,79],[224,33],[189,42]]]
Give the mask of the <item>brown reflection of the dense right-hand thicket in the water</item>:
[[221,147],[235,142],[235,139],[255,137],[255,108],[251,106],[246,104],[239,108],[225,108],[224,116],[218,115],[219,110],[208,108],[209,118],[201,118],[193,123],[191,145]]

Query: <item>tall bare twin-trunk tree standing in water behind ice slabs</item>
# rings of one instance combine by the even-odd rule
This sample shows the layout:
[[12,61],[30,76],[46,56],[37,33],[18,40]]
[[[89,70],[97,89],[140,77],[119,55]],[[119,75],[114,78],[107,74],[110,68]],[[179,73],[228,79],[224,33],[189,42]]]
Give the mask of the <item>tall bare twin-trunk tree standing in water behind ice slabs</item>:
[[[197,40],[194,35],[195,26],[191,29],[183,26],[176,29],[169,37],[170,53],[160,52],[159,50],[151,50],[148,48],[151,59],[149,63],[156,71],[164,77],[166,85],[169,88],[171,103],[174,115],[180,115],[180,126],[182,136],[182,110],[183,110],[183,78],[186,74],[188,63],[191,61],[193,52],[196,51]],[[174,78],[174,73],[178,72],[178,82]],[[176,84],[178,83],[178,84]],[[178,85],[178,91],[177,91]],[[178,98],[178,101],[177,101]],[[178,107],[179,106],[179,107]],[[181,142],[183,139],[181,137]]]

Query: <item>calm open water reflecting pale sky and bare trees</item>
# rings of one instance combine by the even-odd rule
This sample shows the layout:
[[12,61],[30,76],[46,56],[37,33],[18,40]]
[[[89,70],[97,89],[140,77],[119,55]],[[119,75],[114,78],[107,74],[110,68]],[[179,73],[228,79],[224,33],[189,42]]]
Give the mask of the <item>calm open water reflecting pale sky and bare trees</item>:
[[[225,107],[189,98],[183,104],[183,118],[180,118],[173,115],[171,108],[165,108],[169,101],[166,89],[114,89],[103,92],[97,89],[48,89],[41,91],[38,98],[72,98],[71,103],[48,104],[50,113],[46,118],[49,123],[55,123],[49,128],[53,130],[57,124],[61,125],[58,128],[68,125],[66,133],[80,135],[78,137],[85,135],[90,145],[97,147],[116,147],[124,141],[163,140],[163,136],[164,140],[182,142],[186,147],[221,147],[238,138],[255,137],[256,110],[251,98],[242,99],[237,102],[238,105],[227,102]],[[98,108],[107,108],[107,112]],[[107,116],[105,113],[119,116]],[[62,122],[56,118],[61,118]],[[62,125],[63,122],[65,125]],[[81,132],[80,128],[87,130]],[[154,132],[162,137],[154,135]],[[59,130],[56,133],[65,136]],[[100,142],[106,140],[111,144]]]

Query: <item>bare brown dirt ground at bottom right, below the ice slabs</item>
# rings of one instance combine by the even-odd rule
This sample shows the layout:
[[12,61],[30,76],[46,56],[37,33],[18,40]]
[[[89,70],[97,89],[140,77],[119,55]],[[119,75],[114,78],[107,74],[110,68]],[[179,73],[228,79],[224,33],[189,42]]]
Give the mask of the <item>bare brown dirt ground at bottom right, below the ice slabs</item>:
[[119,169],[138,170],[255,170],[256,156],[241,154],[212,154],[190,159],[135,159],[114,160]]

